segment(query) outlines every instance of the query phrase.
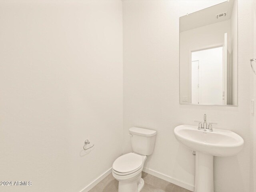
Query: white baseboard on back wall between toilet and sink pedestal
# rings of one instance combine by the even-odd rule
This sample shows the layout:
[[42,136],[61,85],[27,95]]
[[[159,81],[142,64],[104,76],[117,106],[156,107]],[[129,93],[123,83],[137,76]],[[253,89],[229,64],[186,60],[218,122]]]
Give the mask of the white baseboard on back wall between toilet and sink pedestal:
[[193,185],[190,185],[188,183],[185,183],[185,182],[182,182],[180,180],[174,179],[174,178],[172,178],[170,176],[167,176],[165,174],[162,174],[160,172],[157,172],[157,171],[154,171],[152,169],[145,168],[145,167],[143,168],[143,171],[148,173],[148,174],[151,174],[151,175],[153,175],[155,177],[158,177],[158,178],[160,178],[162,180],[165,180],[165,181],[168,181],[168,182],[173,183],[175,185],[178,185],[180,187],[183,187],[183,188],[185,188],[187,190],[194,191],[194,186]]

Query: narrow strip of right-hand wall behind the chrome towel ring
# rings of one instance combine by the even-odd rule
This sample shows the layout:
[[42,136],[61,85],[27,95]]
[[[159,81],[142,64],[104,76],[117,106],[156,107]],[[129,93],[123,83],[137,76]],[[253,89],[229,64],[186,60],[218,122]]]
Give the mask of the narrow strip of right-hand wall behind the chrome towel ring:
[[[250,58],[256,58],[256,1],[250,2]],[[254,63],[256,68],[256,63]],[[250,70],[250,99],[254,99],[256,106],[256,75]],[[254,114],[251,114],[250,135],[251,135],[251,155],[250,155],[250,191],[256,192],[256,107],[254,106]]]

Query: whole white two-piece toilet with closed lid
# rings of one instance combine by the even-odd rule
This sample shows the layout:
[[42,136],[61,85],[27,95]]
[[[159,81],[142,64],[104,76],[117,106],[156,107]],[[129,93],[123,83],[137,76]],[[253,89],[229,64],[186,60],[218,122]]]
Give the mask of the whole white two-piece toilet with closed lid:
[[118,192],[140,192],[144,186],[141,172],[148,155],[154,150],[156,131],[132,127],[129,129],[132,153],[118,157],[112,166],[112,174],[118,183]]

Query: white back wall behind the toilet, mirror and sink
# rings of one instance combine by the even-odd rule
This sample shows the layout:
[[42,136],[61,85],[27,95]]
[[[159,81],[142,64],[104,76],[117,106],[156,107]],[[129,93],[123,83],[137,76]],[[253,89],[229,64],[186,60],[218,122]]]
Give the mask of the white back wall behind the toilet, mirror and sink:
[[194,156],[179,144],[173,130],[202,120],[244,138],[242,152],[214,158],[215,192],[249,192],[249,10],[238,2],[238,107],[179,104],[179,17],[218,1],[123,1],[124,152],[131,150],[128,129],[157,130],[154,153],[145,167],[194,185]]

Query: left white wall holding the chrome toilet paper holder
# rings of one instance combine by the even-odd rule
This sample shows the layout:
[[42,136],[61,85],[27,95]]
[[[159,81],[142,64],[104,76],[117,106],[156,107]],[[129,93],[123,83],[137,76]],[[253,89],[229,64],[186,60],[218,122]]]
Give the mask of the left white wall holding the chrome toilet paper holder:
[[79,192],[122,153],[122,1],[0,1],[0,26],[0,180],[32,181],[0,190]]

